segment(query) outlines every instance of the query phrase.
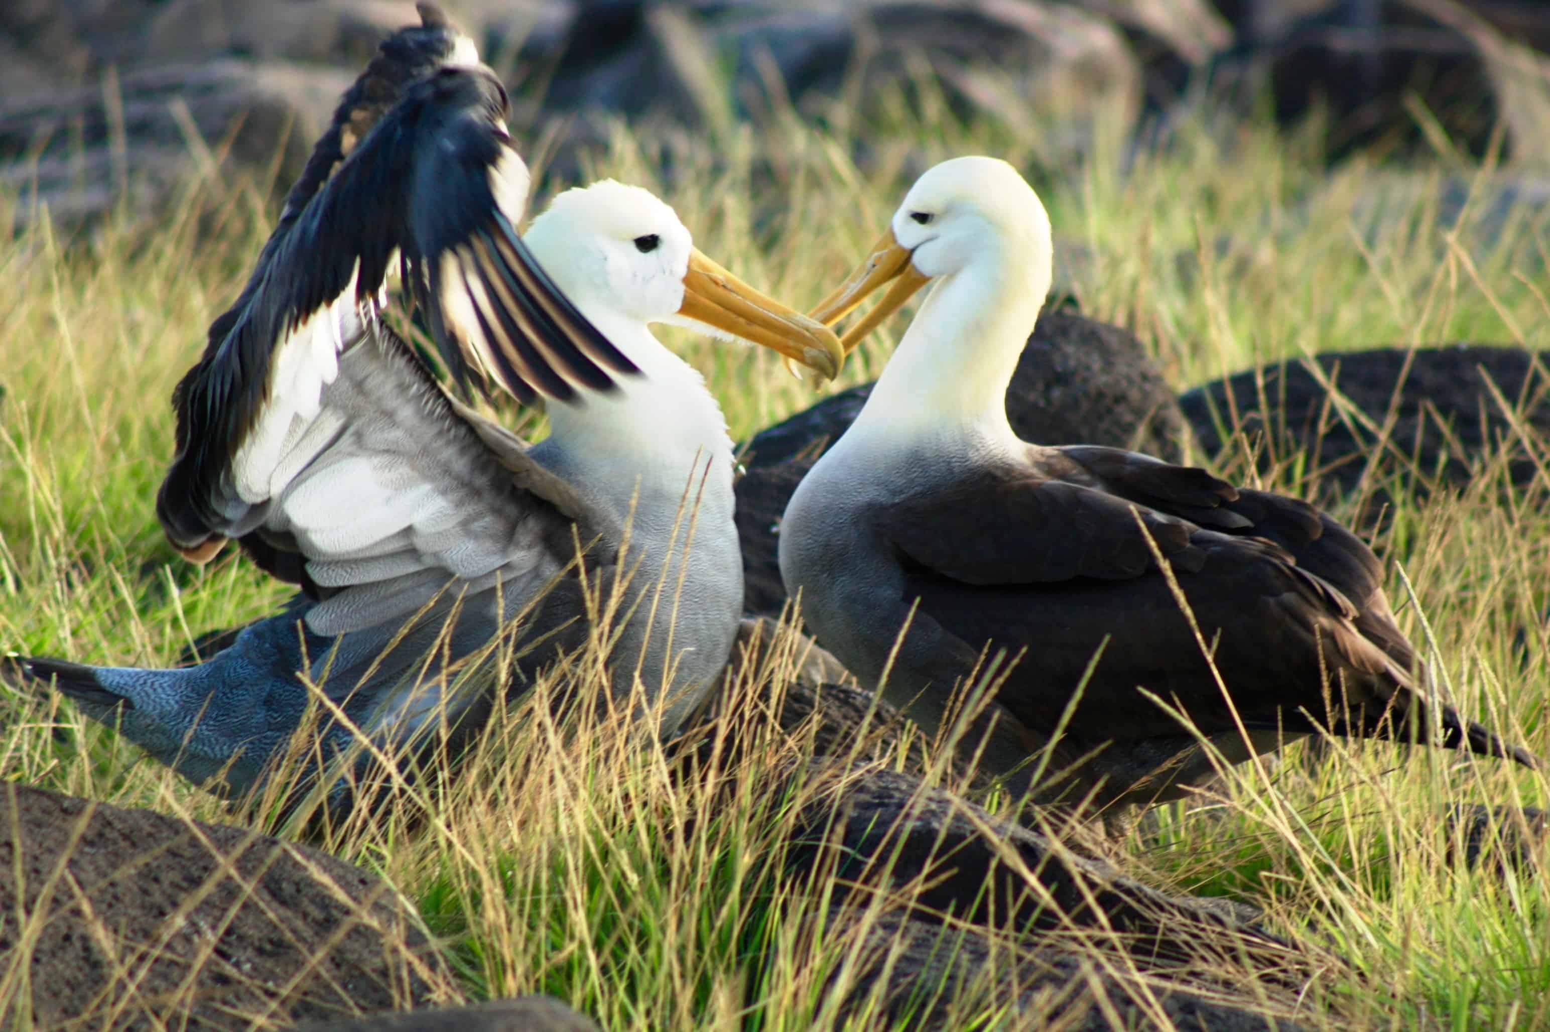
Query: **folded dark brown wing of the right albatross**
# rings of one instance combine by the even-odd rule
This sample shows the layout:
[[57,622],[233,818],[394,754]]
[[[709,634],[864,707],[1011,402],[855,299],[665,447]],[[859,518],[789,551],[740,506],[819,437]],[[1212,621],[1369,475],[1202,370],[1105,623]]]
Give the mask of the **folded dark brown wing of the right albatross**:
[[[1138,516],[1173,569],[1194,626]],[[1031,446],[1021,465],[966,471],[953,487],[884,507],[877,530],[905,558],[910,600],[970,655],[987,642],[1026,646],[1000,693],[1026,727],[1054,727],[1068,699],[1062,690],[1107,643],[1070,725],[1079,739],[1176,734],[1172,717],[1139,702],[1136,685],[1181,703],[1207,734],[1232,733],[1237,719],[1249,730],[1308,731],[1308,714],[1328,716],[1336,733],[1387,736],[1406,733],[1401,717],[1417,714],[1428,738],[1424,710],[1435,703],[1410,679],[1414,652],[1393,624],[1376,558],[1296,499],[1119,449]],[[1327,679],[1339,685],[1330,714]],[[1339,708],[1341,697],[1350,708]],[[1438,744],[1536,765],[1451,707],[1440,710]]]

